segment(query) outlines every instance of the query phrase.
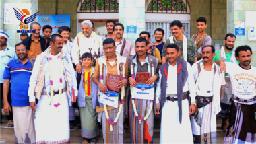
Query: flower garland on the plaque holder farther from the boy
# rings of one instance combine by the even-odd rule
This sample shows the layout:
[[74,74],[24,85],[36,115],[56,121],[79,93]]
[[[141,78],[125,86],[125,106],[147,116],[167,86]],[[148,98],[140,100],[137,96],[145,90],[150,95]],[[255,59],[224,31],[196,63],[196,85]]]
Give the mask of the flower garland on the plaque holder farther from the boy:
[[[152,76],[154,75],[154,65],[152,64],[151,65],[151,70],[152,70]],[[150,65],[148,65],[148,72],[150,72]],[[133,79],[135,79],[134,77],[134,71],[133,71],[133,63],[131,63],[131,77],[133,77]],[[154,84],[154,83],[152,83]],[[133,87],[131,86],[131,95],[133,94]],[[131,103],[133,104],[133,111],[135,113],[135,116],[139,119],[139,124],[141,124],[142,120],[147,120],[148,119],[148,116],[150,116],[150,112],[152,110],[152,107],[153,107],[153,100],[150,100],[150,109],[148,110],[148,113],[146,114],[146,116],[144,118],[141,118],[141,116],[139,116],[139,114],[137,113],[137,109],[136,109],[136,106],[135,106],[135,102],[134,102],[134,99],[133,97],[131,96]]]

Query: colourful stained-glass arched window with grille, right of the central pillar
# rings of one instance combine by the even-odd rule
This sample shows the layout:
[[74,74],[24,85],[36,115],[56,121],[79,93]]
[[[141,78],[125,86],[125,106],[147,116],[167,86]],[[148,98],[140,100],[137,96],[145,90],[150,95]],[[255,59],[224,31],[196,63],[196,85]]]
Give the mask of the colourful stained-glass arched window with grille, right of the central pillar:
[[187,0],[146,0],[146,13],[189,14]]

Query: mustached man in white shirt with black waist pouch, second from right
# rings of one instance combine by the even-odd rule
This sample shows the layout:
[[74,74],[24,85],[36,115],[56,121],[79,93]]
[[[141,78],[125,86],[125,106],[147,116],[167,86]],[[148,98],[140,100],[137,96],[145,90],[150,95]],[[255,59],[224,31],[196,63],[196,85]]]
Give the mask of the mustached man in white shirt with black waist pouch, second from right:
[[214,46],[202,48],[202,58],[192,65],[195,77],[198,110],[191,116],[194,143],[217,143],[216,114],[220,112],[220,87],[225,84],[224,73],[212,61]]

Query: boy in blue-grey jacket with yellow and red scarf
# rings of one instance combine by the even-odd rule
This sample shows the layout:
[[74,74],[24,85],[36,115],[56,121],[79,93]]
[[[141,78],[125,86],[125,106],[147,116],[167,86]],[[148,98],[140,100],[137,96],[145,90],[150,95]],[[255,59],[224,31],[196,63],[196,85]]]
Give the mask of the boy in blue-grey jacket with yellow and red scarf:
[[84,65],[82,73],[77,73],[77,83],[79,83],[77,102],[81,118],[81,143],[97,143],[96,137],[99,134],[96,102],[98,86],[92,81],[94,67],[91,67],[92,54],[86,52],[82,55]]

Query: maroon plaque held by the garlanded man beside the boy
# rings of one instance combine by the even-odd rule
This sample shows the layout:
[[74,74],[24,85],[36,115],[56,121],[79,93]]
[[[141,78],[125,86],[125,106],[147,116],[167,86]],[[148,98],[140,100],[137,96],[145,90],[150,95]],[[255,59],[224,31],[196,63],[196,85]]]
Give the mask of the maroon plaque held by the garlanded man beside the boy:
[[108,90],[119,92],[119,88],[117,87],[119,81],[121,81],[121,75],[108,73],[108,76],[106,77],[106,88],[108,88]]

